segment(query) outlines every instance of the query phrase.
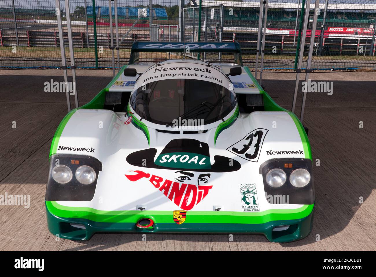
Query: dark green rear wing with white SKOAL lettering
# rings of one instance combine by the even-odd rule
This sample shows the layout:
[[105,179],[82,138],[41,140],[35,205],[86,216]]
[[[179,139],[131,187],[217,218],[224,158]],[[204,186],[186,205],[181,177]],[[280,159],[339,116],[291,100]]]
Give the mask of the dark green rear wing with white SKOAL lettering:
[[234,42],[139,42],[135,41],[130,50],[130,57],[128,64],[138,64],[139,52],[182,52],[186,49],[190,53],[233,53],[233,62],[243,66],[241,60],[240,45],[237,41]]

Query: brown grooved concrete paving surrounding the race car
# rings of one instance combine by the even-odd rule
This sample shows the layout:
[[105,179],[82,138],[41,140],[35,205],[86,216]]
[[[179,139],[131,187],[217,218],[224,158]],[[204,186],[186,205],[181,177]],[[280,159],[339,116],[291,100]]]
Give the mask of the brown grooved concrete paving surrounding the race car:
[[[111,70],[76,72],[80,105],[112,79]],[[62,71],[0,70],[0,194],[30,194],[31,202],[29,208],[0,205],[0,250],[376,250],[374,72],[310,76],[334,81],[334,91],[307,96],[304,124],[312,156],[320,159],[320,166],[313,168],[316,204],[308,237],[270,243],[262,235],[250,234],[234,234],[232,242],[228,234],[148,234],[145,242],[141,233],[115,233],[73,242],[56,241],[49,233],[44,206],[51,140],[67,113],[65,94],[44,92],[44,82],[63,81]],[[275,101],[290,108],[295,74],[263,77],[262,84]],[[12,128],[12,121],[17,128]],[[359,128],[359,121],[364,128]]]

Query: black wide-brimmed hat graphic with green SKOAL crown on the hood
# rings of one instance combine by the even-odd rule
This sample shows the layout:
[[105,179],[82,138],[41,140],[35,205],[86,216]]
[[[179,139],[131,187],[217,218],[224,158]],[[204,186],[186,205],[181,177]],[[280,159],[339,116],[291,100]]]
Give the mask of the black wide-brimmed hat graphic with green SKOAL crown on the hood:
[[230,172],[241,167],[238,161],[219,155],[211,165],[209,145],[197,139],[171,140],[154,162],[156,153],[156,148],[139,150],[129,154],[127,162],[139,167],[205,172]]

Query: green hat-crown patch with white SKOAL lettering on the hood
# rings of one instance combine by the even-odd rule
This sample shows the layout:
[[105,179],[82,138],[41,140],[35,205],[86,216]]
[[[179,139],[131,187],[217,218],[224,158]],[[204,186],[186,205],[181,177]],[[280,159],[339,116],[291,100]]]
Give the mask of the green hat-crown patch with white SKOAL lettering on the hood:
[[210,169],[210,158],[205,155],[188,152],[164,153],[158,156],[155,164],[158,164],[162,167]]

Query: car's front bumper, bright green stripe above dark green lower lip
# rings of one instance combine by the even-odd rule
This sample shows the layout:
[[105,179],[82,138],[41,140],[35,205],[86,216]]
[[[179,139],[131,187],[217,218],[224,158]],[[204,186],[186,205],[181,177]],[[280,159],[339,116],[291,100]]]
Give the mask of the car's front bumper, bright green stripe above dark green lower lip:
[[[133,233],[255,233],[264,234],[271,242],[291,242],[308,236],[312,229],[314,204],[294,210],[268,210],[256,213],[188,211],[184,223],[173,221],[172,211],[99,211],[74,208],[46,201],[50,232],[64,239],[88,240],[99,232]],[[136,222],[143,218],[154,221],[153,228],[140,229]],[[71,226],[82,224],[85,229]],[[273,228],[290,225],[287,230]]]

